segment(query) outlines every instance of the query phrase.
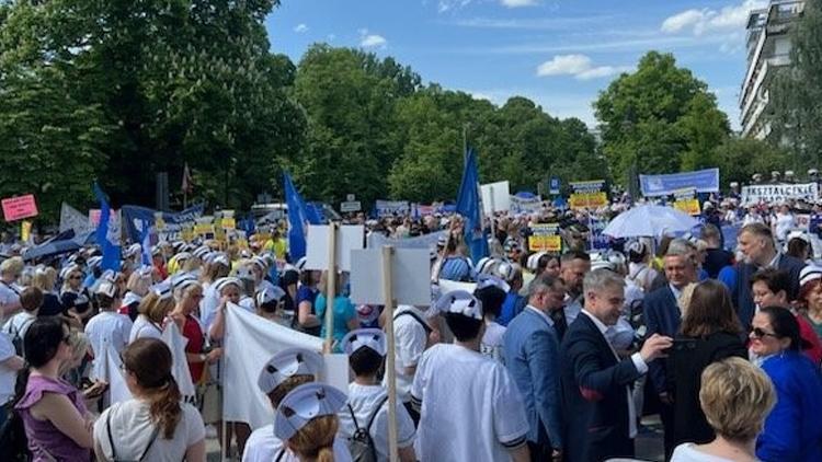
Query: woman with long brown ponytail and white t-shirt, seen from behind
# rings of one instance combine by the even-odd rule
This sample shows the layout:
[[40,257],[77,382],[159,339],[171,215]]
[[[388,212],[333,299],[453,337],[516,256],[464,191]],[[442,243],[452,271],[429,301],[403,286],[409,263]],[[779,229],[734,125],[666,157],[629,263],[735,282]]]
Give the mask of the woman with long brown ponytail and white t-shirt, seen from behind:
[[182,402],[171,363],[171,350],[156,338],[139,338],[123,351],[134,399],[112,405],[94,424],[98,460],[205,461],[203,419]]

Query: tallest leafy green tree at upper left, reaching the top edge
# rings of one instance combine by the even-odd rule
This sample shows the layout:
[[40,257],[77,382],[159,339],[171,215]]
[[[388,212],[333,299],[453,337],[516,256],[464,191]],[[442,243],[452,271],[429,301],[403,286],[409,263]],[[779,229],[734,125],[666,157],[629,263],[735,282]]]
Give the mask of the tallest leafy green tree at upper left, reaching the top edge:
[[[294,66],[269,53],[275,0],[19,0],[3,7],[0,66],[50,66],[67,96],[114,127],[101,180],[115,203],[150,204],[155,173],[178,189],[184,162],[195,195],[250,204],[294,155],[305,117],[288,97]],[[22,74],[26,74],[23,72]],[[228,199],[228,204],[224,204]]]

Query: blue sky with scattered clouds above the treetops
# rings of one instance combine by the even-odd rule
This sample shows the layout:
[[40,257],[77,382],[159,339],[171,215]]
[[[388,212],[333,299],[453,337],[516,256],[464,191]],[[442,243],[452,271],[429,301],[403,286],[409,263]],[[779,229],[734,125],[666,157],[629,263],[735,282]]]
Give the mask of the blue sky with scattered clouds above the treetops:
[[591,103],[648,50],[673,53],[739,127],[745,22],[766,0],[282,0],[272,50],[316,42],[393,56],[425,82],[495,104],[523,95],[595,125]]

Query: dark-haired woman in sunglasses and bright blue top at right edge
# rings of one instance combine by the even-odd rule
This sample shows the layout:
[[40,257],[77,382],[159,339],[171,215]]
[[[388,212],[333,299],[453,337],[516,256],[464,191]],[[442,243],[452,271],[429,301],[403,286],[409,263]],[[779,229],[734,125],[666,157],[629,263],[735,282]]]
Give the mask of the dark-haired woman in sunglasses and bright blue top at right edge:
[[750,350],[776,388],[777,402],[756,441],[764,461],[822,461],[822,376],[801,354],[794,314],[766,307],[753,317]]

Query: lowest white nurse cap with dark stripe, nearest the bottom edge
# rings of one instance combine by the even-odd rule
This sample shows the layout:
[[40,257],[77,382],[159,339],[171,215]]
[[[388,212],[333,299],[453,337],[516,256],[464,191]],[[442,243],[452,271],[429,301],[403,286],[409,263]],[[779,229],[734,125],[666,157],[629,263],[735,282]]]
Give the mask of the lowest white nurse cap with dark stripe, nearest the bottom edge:
[[274,416],[274,436],[286,441],[315,418],[336,415],[345,393],[324,383],[306,383],[288,393]]

